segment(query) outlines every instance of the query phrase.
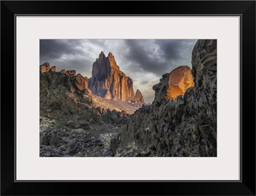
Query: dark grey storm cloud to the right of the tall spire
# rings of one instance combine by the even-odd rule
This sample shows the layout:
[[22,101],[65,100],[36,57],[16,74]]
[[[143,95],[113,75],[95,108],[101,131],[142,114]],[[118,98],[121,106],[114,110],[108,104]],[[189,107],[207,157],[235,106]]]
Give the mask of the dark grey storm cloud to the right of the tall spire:
[[125,40],[125,54],[134,66],[156,75],[172,71],[177,66],[191,66],[191,52],[196,40]]

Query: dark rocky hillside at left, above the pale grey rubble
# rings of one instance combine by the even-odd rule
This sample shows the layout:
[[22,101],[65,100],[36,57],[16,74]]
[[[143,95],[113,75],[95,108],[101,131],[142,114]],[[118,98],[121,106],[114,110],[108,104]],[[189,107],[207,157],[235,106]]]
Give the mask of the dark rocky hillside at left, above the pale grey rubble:
[[[85,105],[92,103],[89,90],[80,91],[76,86],[76,76],[62,72],[40,73],[40,109],[51,110],[63,115],[83,114]],[[42,114],[43,116],[45,114]]]

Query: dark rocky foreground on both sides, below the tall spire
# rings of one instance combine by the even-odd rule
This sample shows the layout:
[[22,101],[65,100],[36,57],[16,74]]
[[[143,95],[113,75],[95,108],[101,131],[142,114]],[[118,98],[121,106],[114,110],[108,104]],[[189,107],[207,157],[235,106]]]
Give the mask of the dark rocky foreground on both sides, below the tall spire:
[[99,98],[80,75],[42,67],[40,156],[216,156],[216,40],[197,41],[192,65],[164,74],[152,105],[138,110]]

